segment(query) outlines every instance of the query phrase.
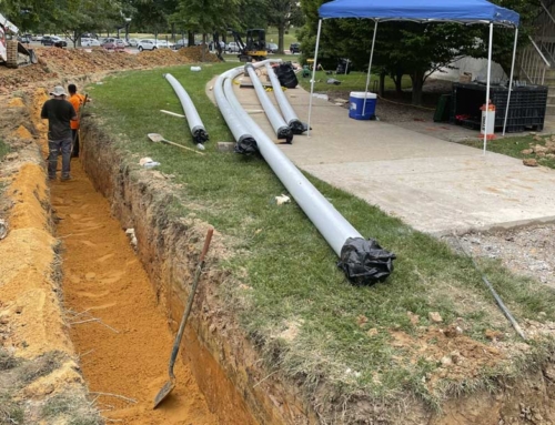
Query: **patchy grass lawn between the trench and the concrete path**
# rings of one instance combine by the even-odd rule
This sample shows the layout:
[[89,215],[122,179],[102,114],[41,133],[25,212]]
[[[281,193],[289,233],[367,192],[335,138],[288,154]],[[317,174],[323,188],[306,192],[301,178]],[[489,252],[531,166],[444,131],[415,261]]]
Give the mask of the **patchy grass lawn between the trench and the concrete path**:
[[[294,380],[309,396],[325,382],[330,397],[341,394],[345,397],[341,399],[349,399],[362,392],[395,403],[408,392],[433,406],[453,393],[491,385],[500,374],[522,374],[527,365],[516,361],[521,358],[518,351],[503,352],[495,364],[476,363],[475,371],[464,378],[444,373],[440,362],[444,354],[437,353],[448,350],[448,354],[453,347],[447,344],[442,348],[446,336],[438,326],[460,324],[465,343],[484,344],[478,345],[478,352],[491,345],[486,331],[506,335],[507,345],[518,342],[467,257],[307,175],[361,234],[375,237],[397,255],[395,271],[385,283],[353,286],[296,203],[275,204],[274,196],[285,189],[263,159],[216,151],[216,141],[232,141],[232,136],[208,99],[205,84],[234,65],[202,64],[201,72],[175,67],[112,75],[101,85],[88,87],[94,99],[89,110],[101,117],[99,125],[107,133],[115,135],[117,146],[129,152],[131,169],[139,169],[138,159],[148,155],[161,162],[160,171],[173,175],[180,184],[176,199],[183,201],[168,205],[170,217],[195,214],[222,233],[231,257],[220,266],[232,275],[220,287],[222,297],[236,311],[271,371]],[[159,112],[182,112],[170,84],[161,78],[167,72],[188,90],[210,133],[204,156],[153,144],[147,138],[147,133],[158,132],[193,146],[186,123]],[[341,78],[345,81],[342,89],[360,90],[365,83],[359,73]],[[496,261],[483,260],[481,266],[521,324],[525,318],[555,320],[553,291],[533,280],[515,277]],[[428,318],[431,312],[441,314],[441,325]],[[413,343],[398,343],[400,335]],[[420,351],[418,341],[431,352]],[[544,340],[534,342],[527,353],[542,361],[548,355],[548,345]],[[437,353],[431,354],[435,348]]]

